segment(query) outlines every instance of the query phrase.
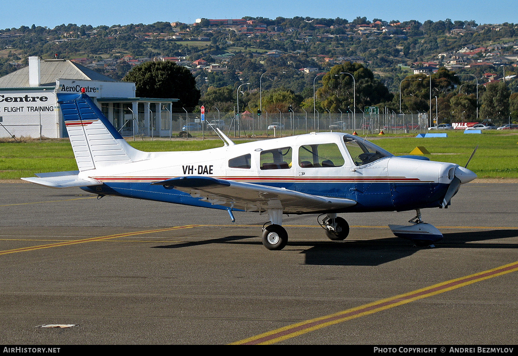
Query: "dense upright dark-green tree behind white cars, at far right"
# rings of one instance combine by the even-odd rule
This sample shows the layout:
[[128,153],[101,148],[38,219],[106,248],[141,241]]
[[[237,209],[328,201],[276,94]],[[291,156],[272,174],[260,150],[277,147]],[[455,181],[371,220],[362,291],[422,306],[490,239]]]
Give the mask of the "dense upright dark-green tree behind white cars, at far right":
[[491,120],[495,125],[506,123],[509,117],[509,88],[506,83],[498,82],[486,85],[480,101],[480,117]]

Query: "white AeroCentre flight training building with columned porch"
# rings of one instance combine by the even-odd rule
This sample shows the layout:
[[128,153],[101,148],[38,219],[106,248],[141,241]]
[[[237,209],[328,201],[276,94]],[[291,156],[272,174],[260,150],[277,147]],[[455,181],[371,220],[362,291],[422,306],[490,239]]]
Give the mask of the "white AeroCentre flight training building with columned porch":
[[56,94],[80,93],[81,87],[121,135],[170,135],[171,106],[178,99],[137,98],[135,83],[67,60],[29,57],[28,63],[0,78],[0,138],[67,137]]

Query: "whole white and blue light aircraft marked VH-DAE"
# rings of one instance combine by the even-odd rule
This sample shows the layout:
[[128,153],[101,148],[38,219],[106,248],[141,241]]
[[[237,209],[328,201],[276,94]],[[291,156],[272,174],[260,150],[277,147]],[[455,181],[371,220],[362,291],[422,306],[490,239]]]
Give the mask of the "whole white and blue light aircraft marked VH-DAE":
[[228,211],[267,213],[262,241],[270,250],[288,240],[283,214],[320,214],[331,240],[349,234],[338,213],[415,210],[396,236],[430,245],[442,234],[421,209],[448,207],[461,184],[477,176],[465,167],[425,157],[395,157],[369,141],[339,132],[309,133],[204,151],[142,152],[129,145],[86,94],[57,94],[79,171],[22,178],[51,188],[80,187],[123,196]]

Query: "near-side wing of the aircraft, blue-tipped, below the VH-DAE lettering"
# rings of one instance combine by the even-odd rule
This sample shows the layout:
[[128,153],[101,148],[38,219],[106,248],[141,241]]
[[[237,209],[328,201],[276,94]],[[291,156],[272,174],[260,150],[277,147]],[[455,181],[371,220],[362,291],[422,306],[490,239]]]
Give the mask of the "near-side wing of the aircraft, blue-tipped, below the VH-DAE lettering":
[[174,188],[214,205],[243,211],[263,212],[268,209],[282,209],[284,213],[292,214],[318,213],[356,204],[356,201],[350,199],[328,198],[285,188],[204,176],[178,177],[151,184]]

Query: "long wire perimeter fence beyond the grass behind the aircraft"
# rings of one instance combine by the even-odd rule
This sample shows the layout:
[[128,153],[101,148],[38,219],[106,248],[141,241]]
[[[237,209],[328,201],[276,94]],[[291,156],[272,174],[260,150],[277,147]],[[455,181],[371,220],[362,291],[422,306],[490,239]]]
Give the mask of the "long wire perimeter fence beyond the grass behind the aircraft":
[[[425,113],[374,114],[364,113],[268,113],[262,115],[233,112],[210,112],[205,120],[199,113],[162,113],[160,122],[151,119],[149,125],[137,121],[137,137],[217,137],[219,127],[229,137],[285,137],[309,132],[356,132],[369,133],[422,133],[429,126]],[[123,136],[133,134],[133,126],[128,123],[122,128]],[[148,129],[146,129],[148,126]]]

